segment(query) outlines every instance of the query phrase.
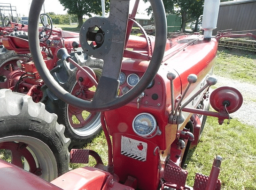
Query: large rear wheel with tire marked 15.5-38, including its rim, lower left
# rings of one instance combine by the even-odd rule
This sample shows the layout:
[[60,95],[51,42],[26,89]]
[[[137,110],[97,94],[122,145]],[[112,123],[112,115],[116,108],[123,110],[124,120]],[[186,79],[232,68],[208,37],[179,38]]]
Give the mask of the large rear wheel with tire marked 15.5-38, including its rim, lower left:
[[0,90],[0,158],[47,181],[69,171],[64,126],[31,96]]

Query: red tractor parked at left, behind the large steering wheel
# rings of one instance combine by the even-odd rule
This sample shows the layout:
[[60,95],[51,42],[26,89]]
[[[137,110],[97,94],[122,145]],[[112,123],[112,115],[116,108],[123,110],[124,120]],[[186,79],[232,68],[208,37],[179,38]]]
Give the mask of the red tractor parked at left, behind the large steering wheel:
[[[43,22],[45,16],[48,25]],[[80,85],[76,82],[76,67],[69,63],[58,62],[57,51],[63,47],[80,66],[90,66],[98,80],[103,62],[77,50],[80,47],[78,33],[53,28],[51,18],[46,14],[41,14],[40,20],[43,23],[43,26],[39,27],[41,54],[55,80],[73,94],[80,90]],[[71,107],[44,85],[31,58],[27,32],[13,31],[9,35],[2,36],[1,41],[2,52],[5,53],[2,54],[0,64],[0,88],[30,95],[34,102],[45,103],[46,109],[59,115],[58,122],[66,126],[65,135],[73,139],[70,147],[81,147],[101,131],[100,112],[88,112]],[[88,94],[92,93],[90,92],[92,90],[84,90],[86,97],[83,98],[90,99]]]

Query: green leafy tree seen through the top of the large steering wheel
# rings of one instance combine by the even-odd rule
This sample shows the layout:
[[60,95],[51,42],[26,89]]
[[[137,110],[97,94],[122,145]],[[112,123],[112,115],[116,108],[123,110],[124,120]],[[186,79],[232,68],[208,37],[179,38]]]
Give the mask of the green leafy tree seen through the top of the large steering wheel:
[[[64,10],[68,10],[68,14],[77,15],[78,28],[83,25],[83,16],[92,16],[91,14],[101,15],[101,0],[59,0]],[[106,11],[109,11],[109,0],[105,0]]]

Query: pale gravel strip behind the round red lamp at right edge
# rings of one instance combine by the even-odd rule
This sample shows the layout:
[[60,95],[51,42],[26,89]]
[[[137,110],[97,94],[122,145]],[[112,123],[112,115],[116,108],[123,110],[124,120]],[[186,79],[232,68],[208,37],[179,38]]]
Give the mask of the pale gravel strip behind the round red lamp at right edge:
[[[256,86],[246,82],[235,81],[233,79],[215,76],[217,78],[216,87],[229,86],[236,88],[243,96],[243,104],[239,110],[230,114],[231,117],[239,121],[256,127]],[[226,120],[224,121],[226,122]],[[231,121],[232,122],[232,121]]]

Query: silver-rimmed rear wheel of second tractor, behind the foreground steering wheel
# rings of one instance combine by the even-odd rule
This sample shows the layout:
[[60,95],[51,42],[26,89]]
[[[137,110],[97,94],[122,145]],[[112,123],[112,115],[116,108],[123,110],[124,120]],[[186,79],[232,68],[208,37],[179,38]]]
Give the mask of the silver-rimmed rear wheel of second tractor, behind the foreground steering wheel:
[[[75,53],[76,54],[76,53]],[[75,55],[70,54],[72,58],[81,66],[89,66],[93,69],[97,76],[97,80],[101,77],[103,61],[100,59],[90,58],[85,54]],[[81,57],[85,56],[85,59],[81,61]],[[80,57],[80,58],[79,58]],[[64,88],[66,91],[72,93],[79,86],[76,80],[76,69],[70,70],[65,65],[59,64],[55,69],[51,71],[55,80]],[[66,68],[64,68],[66,67]],[[60,73],[60,74],[58,74]],[[64,74],[66,73],[66,74]],[[76,88],[77,87],[77,88]],[[101,115],[100,112],[90,113],[86,110],[75,109],[70,107],[66,102],[61,101],[52,92],[47,91],[47,98],[43,101],[46,104],[46,109],[49,112],[58,115],[58,123],[66,126],[65,136],[71,139],[69,149],[81,148],[92,139],[94,139],[101,132]],[[72,111],[71,111],[72,108]],[[83,116],[82,116],[83,112]],[[76,116],[83,117],[82,122],[79,122]],[[81,120],[81,119],[80,119]]]

